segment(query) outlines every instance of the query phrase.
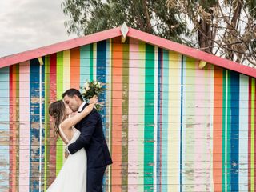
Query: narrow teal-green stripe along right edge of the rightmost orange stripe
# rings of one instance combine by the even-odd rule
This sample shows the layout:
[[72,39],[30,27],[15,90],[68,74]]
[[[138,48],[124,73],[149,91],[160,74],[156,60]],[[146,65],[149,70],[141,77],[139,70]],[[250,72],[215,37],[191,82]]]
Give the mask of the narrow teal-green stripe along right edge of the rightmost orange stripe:
[[222,191],[226,187],[226,70],[223,72],[222,86]]

